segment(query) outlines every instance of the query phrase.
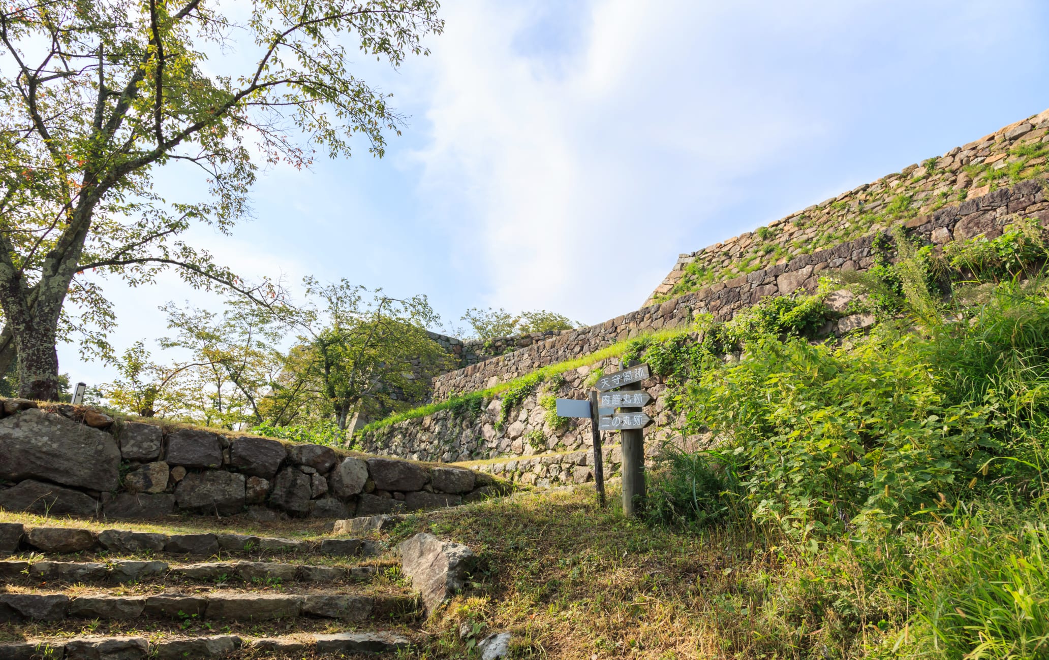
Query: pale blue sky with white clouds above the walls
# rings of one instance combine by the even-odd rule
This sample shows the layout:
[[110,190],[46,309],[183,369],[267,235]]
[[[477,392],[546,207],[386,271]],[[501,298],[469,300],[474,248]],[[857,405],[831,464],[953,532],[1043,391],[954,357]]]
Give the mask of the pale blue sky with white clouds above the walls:
[[[233,237],[196,244],[249,278],[346,278],[593,324],[636,309],[692,251],[1049,108],[1049,4],[860,0],[445,0],[429,58],[361,74],[410,115],[278,167]],[[171,195],[198,181],[166,173]],[[602,269],[598,264],[618,262]],[[600,285],[602,293],[596,292]],[[115,344],[165,334],[166,277],[107,285]],[[60,347],[62,371],[113,377]]]

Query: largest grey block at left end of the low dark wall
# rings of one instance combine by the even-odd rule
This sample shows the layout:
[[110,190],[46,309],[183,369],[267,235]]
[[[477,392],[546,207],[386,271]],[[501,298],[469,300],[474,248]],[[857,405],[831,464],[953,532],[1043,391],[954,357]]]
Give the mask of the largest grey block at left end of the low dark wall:
[[108,433],[38,409],[0,419],[0,478],[112,490],[121,452]]

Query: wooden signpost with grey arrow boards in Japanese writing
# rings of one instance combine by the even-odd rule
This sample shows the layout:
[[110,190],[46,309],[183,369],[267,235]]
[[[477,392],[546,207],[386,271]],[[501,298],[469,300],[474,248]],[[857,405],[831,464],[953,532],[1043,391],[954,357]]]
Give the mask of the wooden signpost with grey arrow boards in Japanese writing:
[[[594,484],[598,499],[604,506],[604,460],[601,452],[601,432],[620,432],[623,452],[623,513],[633,516],[638,503],[645,498],[645,426],[651,418],[642,406],[651,396],[641,390],[641,381],[648,377],[648,365],[630,362],[625,369],[598,378],[597,391],[592,391],[590,401],[557,399],[557,414],[561,417],[590,417],[594,438]],[[618,392],[609,392],[622,388]],[[618,413],[615,409],[620,409]]]

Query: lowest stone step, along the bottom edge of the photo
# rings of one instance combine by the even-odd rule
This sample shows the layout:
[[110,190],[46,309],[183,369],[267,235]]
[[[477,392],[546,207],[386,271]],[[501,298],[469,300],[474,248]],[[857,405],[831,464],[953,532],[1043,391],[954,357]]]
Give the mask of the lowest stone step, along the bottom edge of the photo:
[[184,660],[186,658],[224,658],[238,651],[252,657],[312,653],[316,656],[342,654],[386,653],[408,650],[411,639],[393,632],[355,632],[329,635],[297,635],[295,637],[212,637],[164,638],[150,642],[145,637],[78,637],[73,639],[30,639],[0,642],[3,660],[86,660],[87,658],[120,658],[120,660]]

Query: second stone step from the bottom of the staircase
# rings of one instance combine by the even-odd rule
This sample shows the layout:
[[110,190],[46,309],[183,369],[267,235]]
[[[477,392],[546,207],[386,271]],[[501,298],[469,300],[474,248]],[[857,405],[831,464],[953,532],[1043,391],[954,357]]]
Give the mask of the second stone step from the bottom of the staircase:
[[[71,619],[138,618],[265,621],[295,617],[364,621],[402,617],[419,609],[407,594],[210,593],[151,595],[0,593],[0,623]],[[0,656],[2,657],[2,656]]]

